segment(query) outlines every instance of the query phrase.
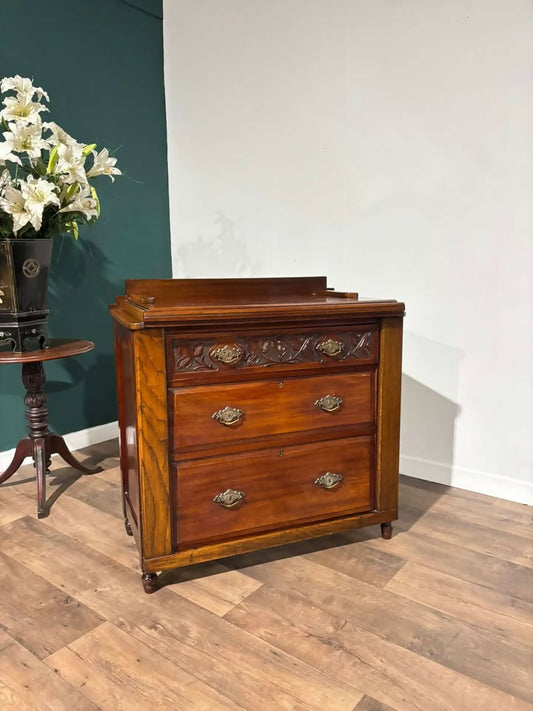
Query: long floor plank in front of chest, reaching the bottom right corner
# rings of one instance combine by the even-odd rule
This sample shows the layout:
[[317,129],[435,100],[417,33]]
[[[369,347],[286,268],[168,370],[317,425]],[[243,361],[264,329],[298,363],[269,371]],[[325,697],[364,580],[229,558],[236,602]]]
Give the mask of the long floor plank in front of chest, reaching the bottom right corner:
[[289,592],[263,586],[225,619],[396,711],[530,711],[521,699],[457,675]]

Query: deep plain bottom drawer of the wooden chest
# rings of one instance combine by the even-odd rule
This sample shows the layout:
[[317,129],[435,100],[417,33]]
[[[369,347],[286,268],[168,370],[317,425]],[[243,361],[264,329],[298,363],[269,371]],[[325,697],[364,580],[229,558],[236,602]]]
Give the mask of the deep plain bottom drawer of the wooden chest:
[[369,511],[373,471],[372,436],[178,462],[177,547]]

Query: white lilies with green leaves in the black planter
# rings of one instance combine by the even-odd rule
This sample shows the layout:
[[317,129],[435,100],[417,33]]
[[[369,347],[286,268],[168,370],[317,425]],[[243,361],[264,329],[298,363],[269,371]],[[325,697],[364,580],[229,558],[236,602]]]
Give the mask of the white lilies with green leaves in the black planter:
[[[54,122],[43,122],[48,94],[30,79],[5,77],[0,110],[0,239],[51,238],[95,222],[100,202],[91,179],[121,175],[106,148],[79,143]],[[89,161],[89,165],[87,165]]]

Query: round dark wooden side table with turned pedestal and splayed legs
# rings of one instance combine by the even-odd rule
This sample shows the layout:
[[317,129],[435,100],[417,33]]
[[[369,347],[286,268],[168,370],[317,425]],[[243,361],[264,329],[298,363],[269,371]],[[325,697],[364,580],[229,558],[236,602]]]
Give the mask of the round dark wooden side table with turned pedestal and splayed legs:
[[37,480],[37,516],[48,515],[46,506],[46,474],[50,468],[50,457],[59,454],[67,464],[84,474],[96,474],[102,467],[86,467],[71,453],[63,437],[48,429],[48,408],[44,392],[45,374],[43,363],[47,360],[57,360],[87,353],[94,348],[91,341],[76,341],[69,339],[50,339],[46,348],[13,353],[0,351],[1,363],[21,363],[22,382],[26,388],[24,404],[28,421],[28,437],[21,439],[15,449],[13,460],[3,474],[0,474],[0,484],[7,481],[19,469],[26,457],[32,457],[36,469]]

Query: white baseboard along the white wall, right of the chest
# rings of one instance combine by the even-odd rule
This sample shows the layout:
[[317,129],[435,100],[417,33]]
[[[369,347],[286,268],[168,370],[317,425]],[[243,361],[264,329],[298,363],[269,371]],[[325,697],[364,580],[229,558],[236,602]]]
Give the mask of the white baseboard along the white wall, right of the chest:
[[455,486],[478,494],[533,505],[533,483],[502,474],[466,469],[417,457],[400,456],[400,472],[415,479]]

